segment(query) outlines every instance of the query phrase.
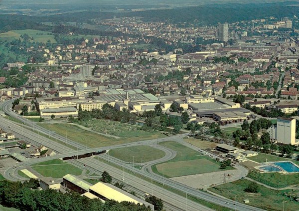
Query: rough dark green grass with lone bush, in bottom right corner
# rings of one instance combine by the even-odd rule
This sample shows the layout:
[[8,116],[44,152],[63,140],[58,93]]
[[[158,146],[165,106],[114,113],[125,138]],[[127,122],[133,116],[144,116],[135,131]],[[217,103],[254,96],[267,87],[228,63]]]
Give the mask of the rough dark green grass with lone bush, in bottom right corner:
[[299,210],[299,204],[297,202],[291,201],[290,198],[283,195],[285,192],[290,192],[290,190],[274,191],[271,189],[267,189],[264,186],[259,186],[259,193],[246,193],[244,189],[248,187],[249,183],[250,181],[245,179],[238,180],[232,183],[227,183],[224,185],[216,186],[214,188],[210,188],[209,190],[231,200],[235,200],[235,196],[237,196],[237,201],[239,203],[243,202],[243,200],[245,199],[248,199],[248,205],[258,207],[267,211],[282,211],[284,201],[287,202],[285,203],[286,211]]

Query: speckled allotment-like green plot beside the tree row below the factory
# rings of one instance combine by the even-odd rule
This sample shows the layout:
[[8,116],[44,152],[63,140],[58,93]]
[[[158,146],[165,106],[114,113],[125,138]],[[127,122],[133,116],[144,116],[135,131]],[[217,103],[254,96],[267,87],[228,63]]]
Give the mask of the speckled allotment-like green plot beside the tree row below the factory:
[[82,125],[100,133],[129,138],[134,141],[164,137],[159,131],[144,131],[137,125],[107,119],[95,119],[83,122]]

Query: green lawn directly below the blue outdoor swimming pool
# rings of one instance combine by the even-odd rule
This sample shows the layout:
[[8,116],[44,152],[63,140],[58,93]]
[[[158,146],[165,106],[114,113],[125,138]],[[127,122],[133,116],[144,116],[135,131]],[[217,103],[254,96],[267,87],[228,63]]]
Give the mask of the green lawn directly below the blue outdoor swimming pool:
[[264,183],[274,188],[284,188],[290,185],[299,184],[299,174],[282,174],[282,173],[260,173],[251,171],[247,177],[258,182]]

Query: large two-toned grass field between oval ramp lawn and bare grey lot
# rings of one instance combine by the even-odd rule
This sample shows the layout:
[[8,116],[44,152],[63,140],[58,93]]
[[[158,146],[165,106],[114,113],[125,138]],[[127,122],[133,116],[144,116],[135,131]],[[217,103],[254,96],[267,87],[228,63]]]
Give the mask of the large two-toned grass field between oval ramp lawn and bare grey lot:
[[[176,151],[176,157],[165,163],[152,166],[152,171],[157,174],[162,175],[164,171],[165,177],[179,177],[222,171],[220,163],[177,142],[166,141],[160,145]],[[229,169],[233,168],[230,167],[226,170]]]

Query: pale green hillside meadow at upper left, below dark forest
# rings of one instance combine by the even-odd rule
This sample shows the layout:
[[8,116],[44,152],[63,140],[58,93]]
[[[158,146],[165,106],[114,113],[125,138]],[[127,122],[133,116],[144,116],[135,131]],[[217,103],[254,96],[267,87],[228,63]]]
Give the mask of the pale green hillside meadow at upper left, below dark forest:
[[33,37],[32,42],[35,41],[35,42],[46,43],[48,40],[50,40],[52,43],[56,43],[56,40],[54,39],[54,35],[52,34],[52,32],[32,30],[32,29],[14,30],[14,31],[7,31],[4,33],[0,33],[0,40],[3,41],[3,40],[19,39],[20,36],[23,34],[27,34],[29,37]]

